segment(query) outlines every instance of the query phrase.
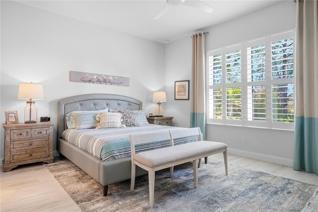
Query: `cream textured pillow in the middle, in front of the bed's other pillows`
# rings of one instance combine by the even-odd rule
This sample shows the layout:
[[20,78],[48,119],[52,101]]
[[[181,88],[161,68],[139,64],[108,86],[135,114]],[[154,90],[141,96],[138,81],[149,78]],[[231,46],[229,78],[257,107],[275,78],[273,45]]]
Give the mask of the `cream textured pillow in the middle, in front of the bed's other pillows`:
[[121,123],[122,114],[120,112],[102,112],[96,115],[96,120],[99,121],[96,129],[126,127]]

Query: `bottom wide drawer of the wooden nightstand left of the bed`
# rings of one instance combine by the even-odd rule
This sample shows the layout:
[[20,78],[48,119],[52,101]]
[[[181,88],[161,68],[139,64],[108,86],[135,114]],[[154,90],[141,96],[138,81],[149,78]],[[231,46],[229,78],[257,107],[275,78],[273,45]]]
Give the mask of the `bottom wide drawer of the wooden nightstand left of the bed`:
[[49,157],[49,149],[38,149],[21,152],[12,152],[10,155],[10,163],[33,160],[38,158]]

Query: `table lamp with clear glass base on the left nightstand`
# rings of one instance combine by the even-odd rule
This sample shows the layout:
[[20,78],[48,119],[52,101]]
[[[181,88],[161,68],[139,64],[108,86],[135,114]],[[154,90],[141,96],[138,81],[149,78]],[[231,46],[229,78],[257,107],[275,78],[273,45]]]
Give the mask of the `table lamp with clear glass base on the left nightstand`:
[[20,83],[18,100],[29,100],[24,108],[24,123],[36,123],[37,108],[32,100],[43,100],[43,85],[35,83]]

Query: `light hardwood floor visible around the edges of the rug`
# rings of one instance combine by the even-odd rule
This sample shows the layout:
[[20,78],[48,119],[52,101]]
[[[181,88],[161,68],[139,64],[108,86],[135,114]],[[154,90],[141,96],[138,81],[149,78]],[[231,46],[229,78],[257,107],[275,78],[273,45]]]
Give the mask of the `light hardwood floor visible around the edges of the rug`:
[[[223,154],[209,157],[223,161]],[[228,163],[267,172],[301,182],[318,185],[318,176],[294,171],[292,167],[228,155]],[[229,174],[231,170],[229,169]],[[318,212],[318,196],[306,212]],[[0,212],[80,212],[71,197],[41,164],[19,166],[10,172],[0,172]]]

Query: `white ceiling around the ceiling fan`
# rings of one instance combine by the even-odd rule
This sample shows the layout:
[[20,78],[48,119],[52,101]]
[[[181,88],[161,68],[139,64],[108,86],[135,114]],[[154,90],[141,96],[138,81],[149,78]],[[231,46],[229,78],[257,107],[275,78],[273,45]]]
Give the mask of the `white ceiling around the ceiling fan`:
[[281,0],[202,0],[214,8],[211,14],[179,5],[172,7],[157,20],[153,18],[165,5],[165,0],[16,1],[145,39],[168,43]]

